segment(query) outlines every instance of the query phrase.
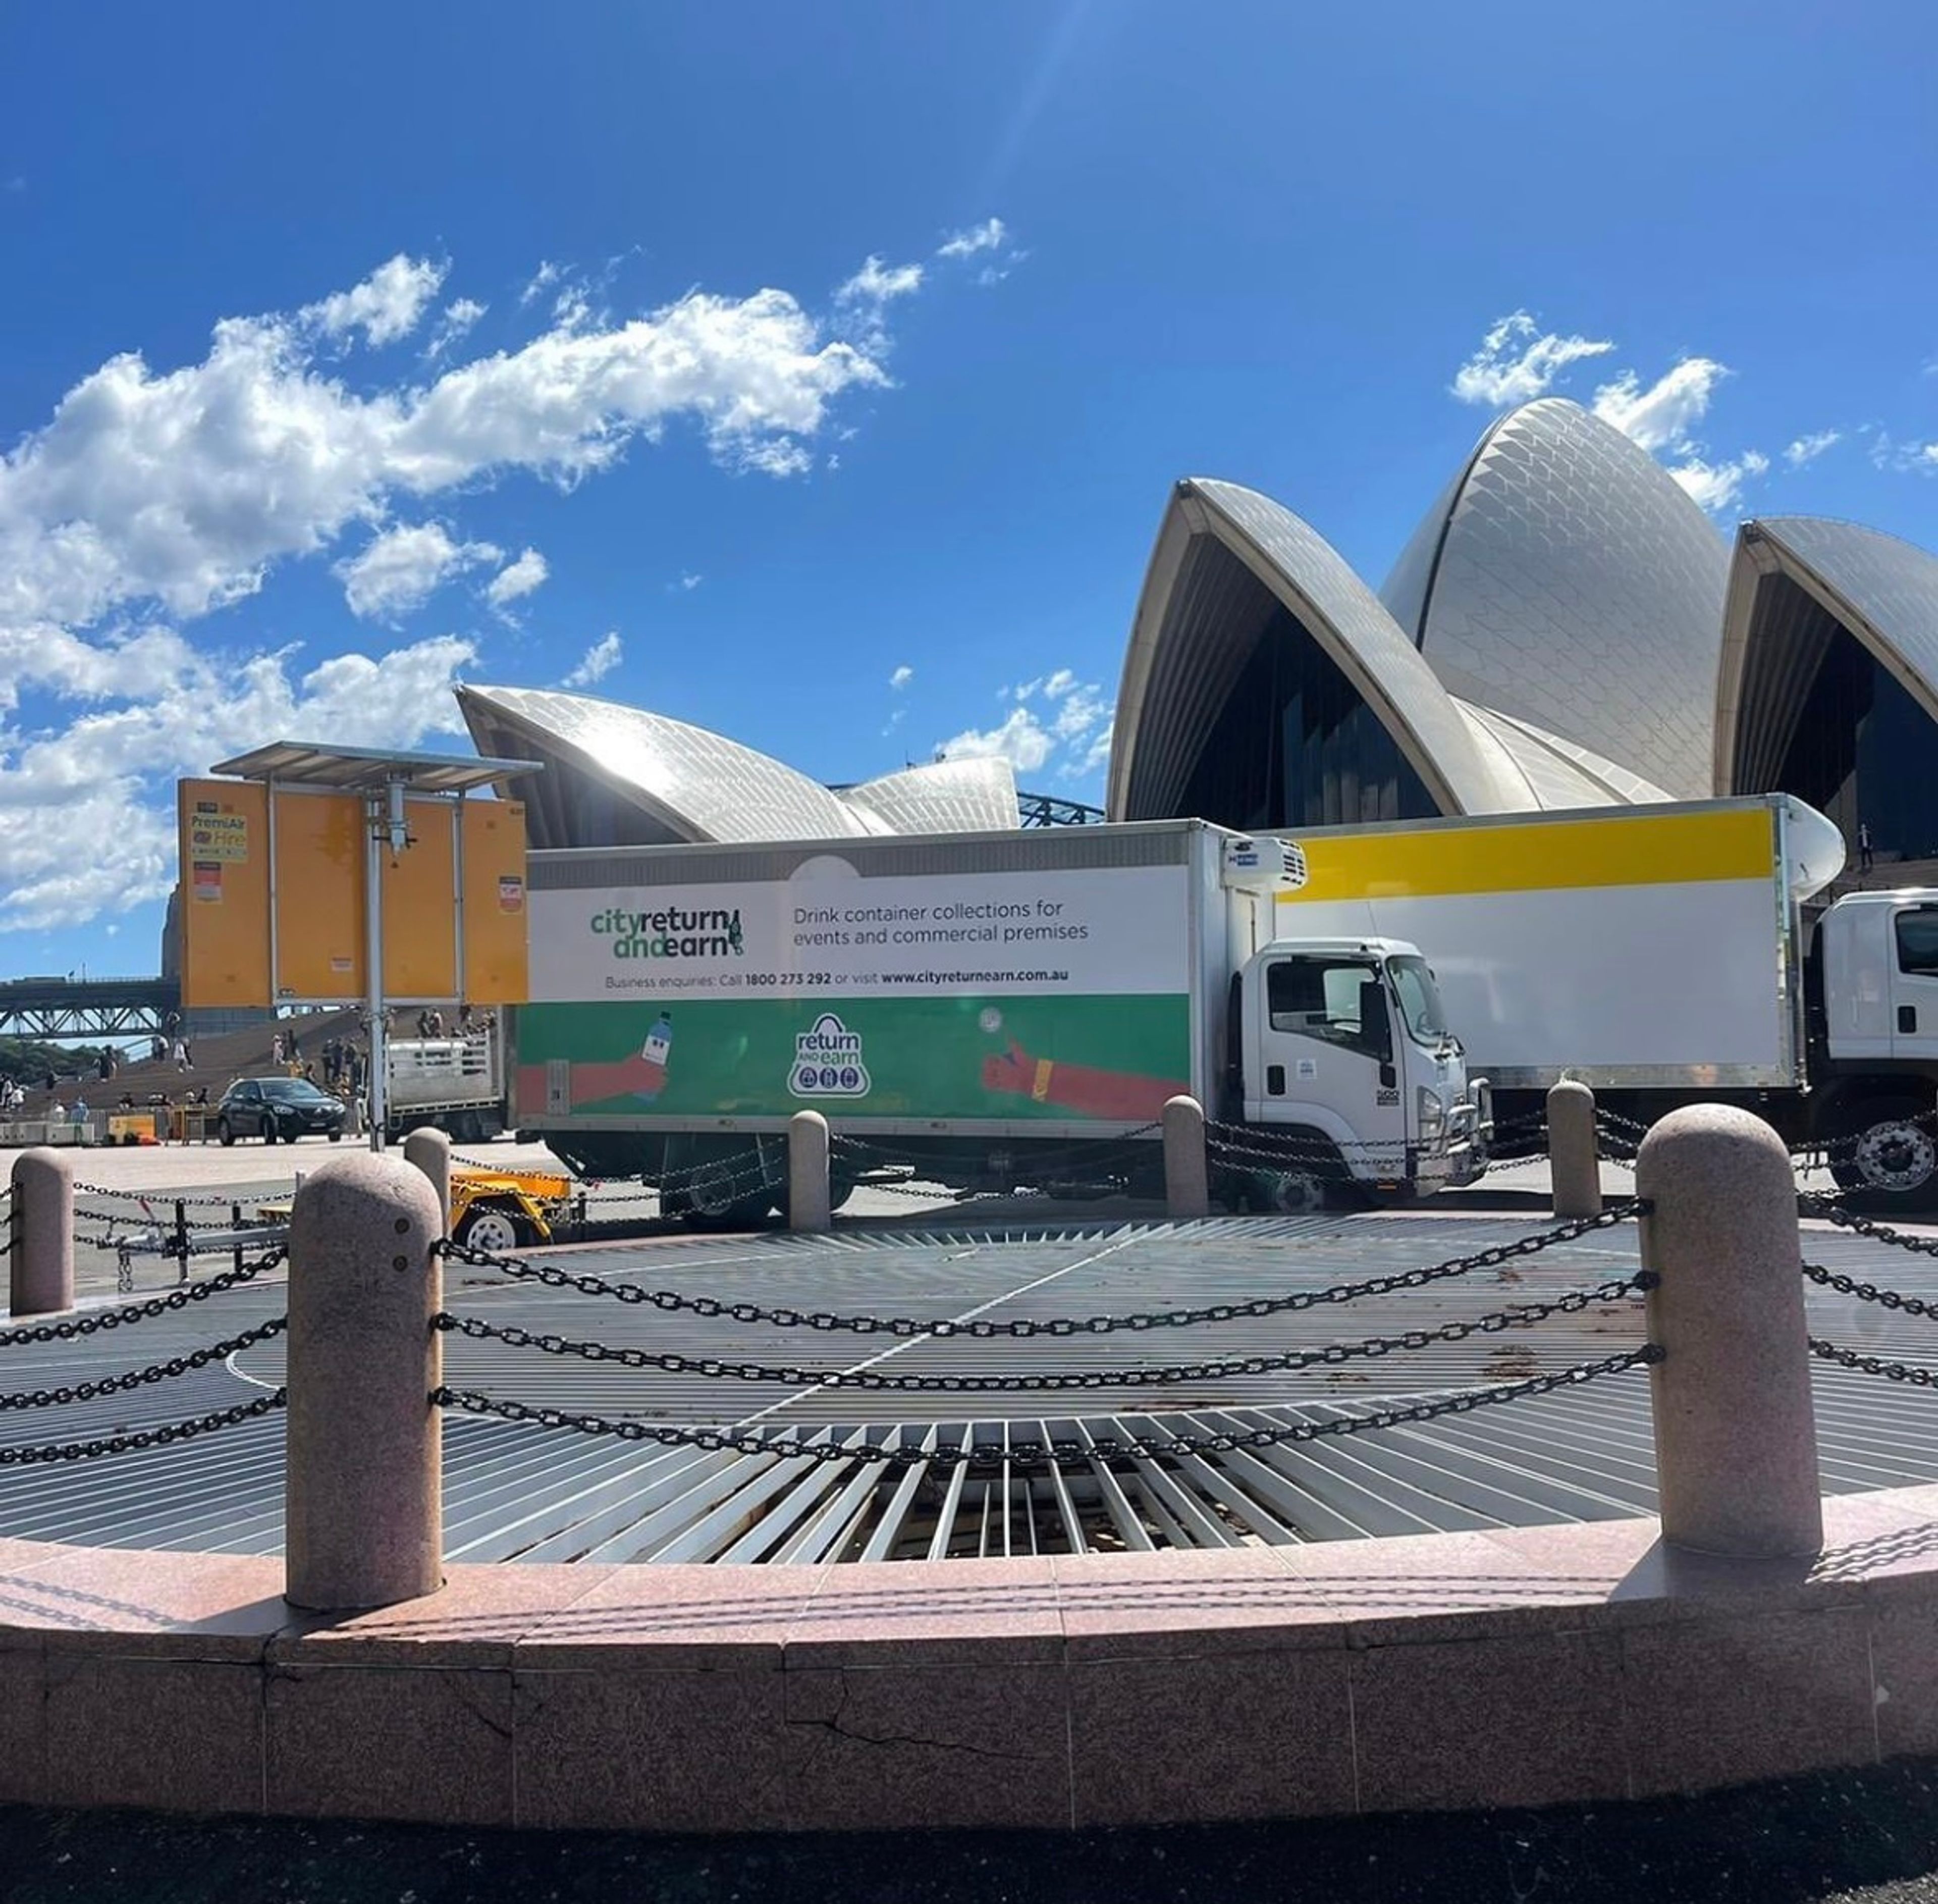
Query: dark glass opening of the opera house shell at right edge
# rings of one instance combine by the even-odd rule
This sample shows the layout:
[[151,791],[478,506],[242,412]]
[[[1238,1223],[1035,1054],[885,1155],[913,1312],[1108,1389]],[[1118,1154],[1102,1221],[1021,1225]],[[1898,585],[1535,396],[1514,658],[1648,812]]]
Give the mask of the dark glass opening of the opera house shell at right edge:
[[1938,857],[1938,733],[1924,710],[1839,628],[1824,655],[1777,787],[1828,814],[1847,841],[1870,826],[1880,853]]

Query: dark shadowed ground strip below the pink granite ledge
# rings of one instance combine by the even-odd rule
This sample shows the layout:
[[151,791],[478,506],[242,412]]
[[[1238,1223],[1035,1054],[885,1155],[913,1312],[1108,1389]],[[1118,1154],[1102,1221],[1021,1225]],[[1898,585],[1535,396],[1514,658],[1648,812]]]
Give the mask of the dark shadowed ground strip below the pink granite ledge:
[[0,1809],[0,1904],[1932,1904],[1938,1766],[1705,1799],[1047,1836],[641,1838]]

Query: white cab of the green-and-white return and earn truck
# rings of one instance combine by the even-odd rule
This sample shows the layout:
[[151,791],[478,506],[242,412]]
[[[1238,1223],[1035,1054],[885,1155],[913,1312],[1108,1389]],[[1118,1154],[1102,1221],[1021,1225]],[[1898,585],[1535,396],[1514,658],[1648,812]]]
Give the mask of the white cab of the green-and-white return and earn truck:
[[1240,1169],[1231,1200],[1306,1208],[1353,1190],[1430,1192],[1486,1167],[1486,1084],[1467,1078],[1440,989],[1411,944],[1262,946],[1233,979],[1227,1041],[1231,1111],[1266,1154],[1285,1152],[1281,1171]]

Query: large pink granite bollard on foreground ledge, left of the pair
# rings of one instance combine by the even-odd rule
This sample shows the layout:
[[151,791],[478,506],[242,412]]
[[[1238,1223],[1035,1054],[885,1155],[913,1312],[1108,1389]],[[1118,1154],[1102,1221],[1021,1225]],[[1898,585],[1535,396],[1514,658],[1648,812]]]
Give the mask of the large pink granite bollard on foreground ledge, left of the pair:
[[289,1223],[291,1605],[339,1611],[444,1584],[438,1192],[395,1158],[333,1158]]

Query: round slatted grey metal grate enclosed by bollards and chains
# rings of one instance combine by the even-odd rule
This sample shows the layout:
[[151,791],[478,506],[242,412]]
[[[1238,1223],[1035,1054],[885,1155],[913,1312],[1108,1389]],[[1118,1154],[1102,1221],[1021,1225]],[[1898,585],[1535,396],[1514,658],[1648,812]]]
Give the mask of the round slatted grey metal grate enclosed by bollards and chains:
[[[1207,1223],[1093,1223],[1021,1231],[963,1227],[828,1239],[754,1237],[647,1249],[583,1249],[574,1268],[651,1287],[843,1313],[998,1318],[1159,1309],[1318,1287],[1409,1268],[1531,1225],[1473,1218],[1283,1218]],[[1632,1227],[1405,1297],[1267,1322],[1112,1338],[829,1338],[804,1330],[667,1317],[612,1301],[453,1272],[448,1303],[494,1322],[694,1355],[907,1373],[1151,1367],[1246,1355],[1535,1301],[1597,1284],[1634,1262]],[[1814,1233],[1833,1268],[1938,1297],[1938,1262],[1862,1237]],[[109,1369],[240,1332],[283,1307],[279,1285],[231,1291],[202,1313],[165,1317],[145,1338],[12,1349],[0,1386],[85,1380]],[[1812,1330],[1870,1353],[1938,1363],[1938,1324],[1810,1289]],[[1607,1311],[1607,1313],[1603,1313]],[[1016,1398],[1027,1413],[961,1413],[971,1398],[762,1388],[698,1375],[566,1363],[498,1344],[446,1340],[453,1382],[533,1402],[674,1423],[771,1423],[837,1444],[934,1439],[1014,1441],[1217,1433],[1366,1412],[1395,1396],[1562,1367],[1640,1338],[1634,1305],[1603,1305],[1537,1330],[1440,1344],[1405,1355],[1219,1382],[1215,1390],[1070,1390]],[[6,1441],[74,1439],[223,1408],[281,1379],[281,1346],[236,1369],[66,1410],[0,1417]],[[1829,1491],[1938,1481],[1938,1408],[1928,1396],[1839,1369],[1816,1373]],[[996,1398],[973,1398],[986,1408]],[[952,1410],[955,1410],[952,1413]],[[50,1427],[58,1421],[58,1429]],[[281,1419],[105,1462],[0,1472],[0,1534],[93,1545],[281,1549]],[[453,1561],[822,1563],[928,1557],[1109,1553],[1355,1539],[1461,1528],[1601,1520],[1653,1510],[1645,1382],[1618,1377],[1579,1392],[1485,1413],[1213,1458],[1093,1460],[1064,1470],[1002,1462],[905,1472],[802,1458],[653,1450],[570,1431],[452,1417],[446,1423],[446,1543]]]

